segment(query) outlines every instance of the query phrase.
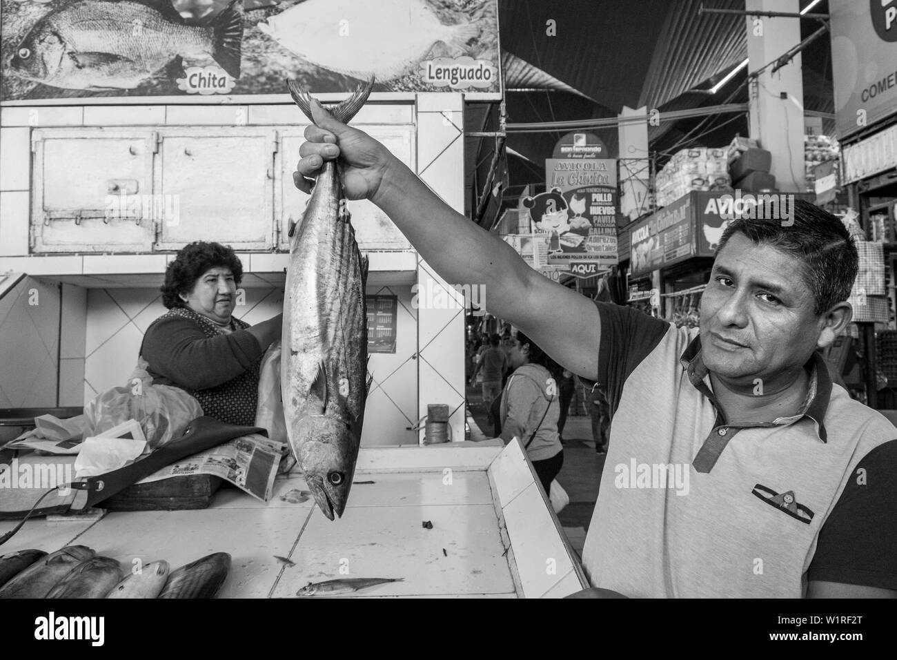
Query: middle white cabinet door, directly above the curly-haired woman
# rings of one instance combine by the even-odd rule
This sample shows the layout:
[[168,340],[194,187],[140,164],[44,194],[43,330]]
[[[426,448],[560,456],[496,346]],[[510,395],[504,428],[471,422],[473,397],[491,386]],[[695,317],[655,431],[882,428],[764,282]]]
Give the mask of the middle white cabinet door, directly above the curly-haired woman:
[[156,248],[214,241],[235,250],[274,245],[274,131],[161,128],[157,189],[178,212],[160,224]]

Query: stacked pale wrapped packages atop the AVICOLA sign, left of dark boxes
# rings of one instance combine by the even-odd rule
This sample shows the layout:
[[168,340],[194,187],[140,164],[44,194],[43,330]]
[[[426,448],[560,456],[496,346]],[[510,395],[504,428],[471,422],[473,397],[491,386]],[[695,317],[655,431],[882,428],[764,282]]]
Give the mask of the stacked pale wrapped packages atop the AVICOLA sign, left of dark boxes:
[[666,207],[691,190],[722,190],[731,187],[727,151],[708,147],[683,149],[658,172],[658,207]]

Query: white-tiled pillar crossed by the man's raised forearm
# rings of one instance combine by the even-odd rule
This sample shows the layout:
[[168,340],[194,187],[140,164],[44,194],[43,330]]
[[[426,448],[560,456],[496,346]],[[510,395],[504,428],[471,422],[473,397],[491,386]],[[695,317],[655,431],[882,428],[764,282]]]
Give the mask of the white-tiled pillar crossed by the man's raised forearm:
[[[463,214],[464,96],[420,93],[416,119],[417,175],[450,207]],[[418,257],[418,415],[427,414],[428,404],[448,404],[451,438],[463,441],[465,300],[451,286],[454,284],[466,283],[446,282]]]

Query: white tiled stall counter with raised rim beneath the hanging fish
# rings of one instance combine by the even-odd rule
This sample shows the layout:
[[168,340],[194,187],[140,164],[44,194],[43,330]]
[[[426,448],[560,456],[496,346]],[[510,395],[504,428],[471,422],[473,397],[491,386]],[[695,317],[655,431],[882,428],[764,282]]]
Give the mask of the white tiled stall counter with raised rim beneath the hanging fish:
[[[334,522],[313,498],[292,501],[292,491],[308,488],[291,475],[267,503],[227,488],[204,510],[30,521],[0,554],[77,543],[126,569],[154,559],[174,569],[224,551],[232,558],[225,598],[290,598],[340,577],[404,578],[358,597],[560,597],[587,585],[517,443],[362,449],[354,481]],[[13,525],[0,521],[0,532]]]

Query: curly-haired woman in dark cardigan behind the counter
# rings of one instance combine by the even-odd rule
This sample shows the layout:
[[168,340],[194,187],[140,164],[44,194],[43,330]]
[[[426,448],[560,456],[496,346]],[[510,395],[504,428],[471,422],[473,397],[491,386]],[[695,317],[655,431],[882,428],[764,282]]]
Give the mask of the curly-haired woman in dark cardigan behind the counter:
[[256,425],[262,356],[281,337],[283,314],[249,326],[232,316],[243,265],[230,247],[192,242],[165,271],[170,311],[146,330],[140,355],[152,384],[194,396],[208,417]]

